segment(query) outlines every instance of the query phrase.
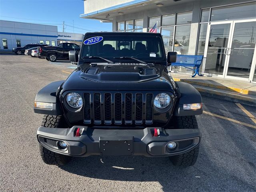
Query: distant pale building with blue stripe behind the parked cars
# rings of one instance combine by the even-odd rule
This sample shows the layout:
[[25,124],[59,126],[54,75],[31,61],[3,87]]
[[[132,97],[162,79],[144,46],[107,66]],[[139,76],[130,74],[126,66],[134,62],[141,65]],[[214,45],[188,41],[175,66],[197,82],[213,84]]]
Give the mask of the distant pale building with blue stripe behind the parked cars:
[[0,20],[0,51],[26,44],[57,46],[62,42],[81,44],[84,34],[58,32],[57,26]]

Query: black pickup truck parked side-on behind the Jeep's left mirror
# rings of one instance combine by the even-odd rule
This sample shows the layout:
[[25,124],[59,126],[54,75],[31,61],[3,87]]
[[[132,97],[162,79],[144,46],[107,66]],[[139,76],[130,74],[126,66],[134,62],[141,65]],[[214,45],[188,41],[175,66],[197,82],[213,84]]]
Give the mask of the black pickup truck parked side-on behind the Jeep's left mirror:
[[51,62],[56,62],[58,59],[69,59],[68,52],[80,51],[80,46],[75,43],[60,43],[59,46],[46,46],[38,48],[38,57],[46,58]]

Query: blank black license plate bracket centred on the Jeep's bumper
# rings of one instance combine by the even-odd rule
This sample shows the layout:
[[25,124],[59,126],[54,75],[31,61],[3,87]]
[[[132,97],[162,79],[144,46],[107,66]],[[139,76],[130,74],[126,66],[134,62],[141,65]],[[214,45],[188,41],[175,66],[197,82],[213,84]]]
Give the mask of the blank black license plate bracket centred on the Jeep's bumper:
[[104,156],[124,156],[133,153],[133,136],[109,138],[100,137],[100,152]]

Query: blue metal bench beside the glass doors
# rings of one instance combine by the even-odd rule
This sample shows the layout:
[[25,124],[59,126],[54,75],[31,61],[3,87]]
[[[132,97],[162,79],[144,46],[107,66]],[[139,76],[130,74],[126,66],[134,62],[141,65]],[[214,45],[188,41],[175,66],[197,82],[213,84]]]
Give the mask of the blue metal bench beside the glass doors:
[[199,74],[199,68],[202,64],[203,57],[203,55],[177,55],[176,62],[172,63],[172,66],[182,66],[193,70],[194,74],[191,77],[196,76],[196,74],[198,74],[198,76],[203,76],[203,74]]

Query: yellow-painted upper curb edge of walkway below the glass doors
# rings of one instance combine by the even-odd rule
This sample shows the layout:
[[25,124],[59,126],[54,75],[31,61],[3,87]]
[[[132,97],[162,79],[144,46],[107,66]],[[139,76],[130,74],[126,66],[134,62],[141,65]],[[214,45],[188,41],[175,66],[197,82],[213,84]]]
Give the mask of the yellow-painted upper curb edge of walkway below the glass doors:
[[246,90],[246,89],[242,89],[242,88],[226,87],[226,86],[223,86],[223,85],[214,85],[214,84],[194,81],[194,80],[191,80],[191,79],[174,78],[174,81],[181,81],[181,82],[186,82],[186,83],[205,86],[205,87],[211,87],[211,88],[216,88],[216,89],[234,91],[234,92],[238,92],[238,93],[241,93],[241,94],[244,94],[244,95],[248,95],[249,92],[250,92],[250,90]]

